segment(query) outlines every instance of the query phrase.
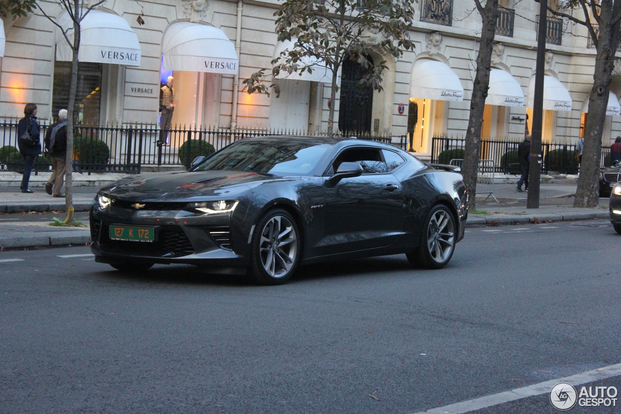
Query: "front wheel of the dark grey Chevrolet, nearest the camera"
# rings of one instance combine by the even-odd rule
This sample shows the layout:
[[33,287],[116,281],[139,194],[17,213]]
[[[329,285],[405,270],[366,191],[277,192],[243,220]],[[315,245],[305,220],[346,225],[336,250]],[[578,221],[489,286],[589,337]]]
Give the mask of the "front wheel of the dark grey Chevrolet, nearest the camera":
[[300,261],[300,232],[288,211],[268,211],[252,234],[248,273],[262,285],[281,285],[291,278]]

